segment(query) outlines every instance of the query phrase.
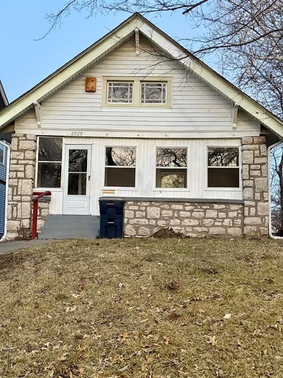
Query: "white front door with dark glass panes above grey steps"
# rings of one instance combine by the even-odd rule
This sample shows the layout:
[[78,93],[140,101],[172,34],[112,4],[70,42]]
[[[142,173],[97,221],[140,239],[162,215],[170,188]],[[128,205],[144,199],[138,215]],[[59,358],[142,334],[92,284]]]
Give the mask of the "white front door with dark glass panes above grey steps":
[[90,145],[66,145],[63,214],[89,214],[90,154]]

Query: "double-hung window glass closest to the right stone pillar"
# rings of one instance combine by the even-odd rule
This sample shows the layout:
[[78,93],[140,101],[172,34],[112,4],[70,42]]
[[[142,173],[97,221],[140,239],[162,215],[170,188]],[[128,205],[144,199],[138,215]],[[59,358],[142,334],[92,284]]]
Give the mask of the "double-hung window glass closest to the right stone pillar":
[[239,188],[240,167],[238,147],[207,148],[208,188]]

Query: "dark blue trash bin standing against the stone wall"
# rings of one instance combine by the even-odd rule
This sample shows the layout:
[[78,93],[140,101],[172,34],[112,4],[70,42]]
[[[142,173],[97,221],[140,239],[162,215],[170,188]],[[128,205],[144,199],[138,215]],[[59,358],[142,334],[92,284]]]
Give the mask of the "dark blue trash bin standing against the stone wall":
[[123,237],[124,202],[124,199],[120,197],[99,198],[101,238]]

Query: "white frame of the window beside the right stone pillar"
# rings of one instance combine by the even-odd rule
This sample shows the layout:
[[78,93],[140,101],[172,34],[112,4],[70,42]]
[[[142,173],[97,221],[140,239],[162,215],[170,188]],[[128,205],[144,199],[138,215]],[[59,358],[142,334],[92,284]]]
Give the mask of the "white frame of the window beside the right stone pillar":
[[[237,166],[227,166],[227,165],[221,165],[221,166],[211,166],[208,165],[208,149],[209,148],[237,148],[239,153],[239,165]],[[205,190],[207,191],[213,191],[213,190],[227,190],[227,191],[242,191],[242,155],[241,155],[241,146],[227,146],[227,145],[208,145],[205,149],[205,166],[206,166],[206,184],[205,184]],[[209,187],[208,186],[208,168],[237,168],[239,170],[239,187]]]

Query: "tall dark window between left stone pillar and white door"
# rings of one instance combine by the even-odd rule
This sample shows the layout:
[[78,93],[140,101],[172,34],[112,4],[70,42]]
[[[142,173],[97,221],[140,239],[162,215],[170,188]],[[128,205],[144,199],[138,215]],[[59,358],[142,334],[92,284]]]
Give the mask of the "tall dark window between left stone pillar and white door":
[[38,138],[38,188],[61,187],[62,140],[57,137]]

